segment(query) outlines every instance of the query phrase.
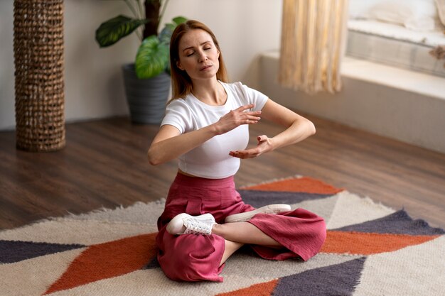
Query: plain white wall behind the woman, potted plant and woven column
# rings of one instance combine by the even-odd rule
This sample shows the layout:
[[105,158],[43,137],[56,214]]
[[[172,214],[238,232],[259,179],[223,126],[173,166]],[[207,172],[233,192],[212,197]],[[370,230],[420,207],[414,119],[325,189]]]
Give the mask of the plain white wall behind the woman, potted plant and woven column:
[[[65,118],[79,121],[127,114],[120,67],[139,41],[130,35],[110,48],[95,42],[97,26],[131,15],[124,1],[65,0]],[[279,48],[282,1],[170,0],[163,21],[183,15],[203,21],[220,41],[231,81],[258,87],[259,54]],[[0,130],[15,126],[13,1],[0,1]]]

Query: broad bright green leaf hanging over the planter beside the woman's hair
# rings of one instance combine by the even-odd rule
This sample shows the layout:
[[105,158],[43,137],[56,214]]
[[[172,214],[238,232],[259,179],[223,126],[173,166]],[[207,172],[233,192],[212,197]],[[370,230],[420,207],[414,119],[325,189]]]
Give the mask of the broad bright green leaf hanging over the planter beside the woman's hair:
[[168,44],[161,43],[156,35],[144,39],[136,54],[136,76],[139,79],[155,77],[168,64]]

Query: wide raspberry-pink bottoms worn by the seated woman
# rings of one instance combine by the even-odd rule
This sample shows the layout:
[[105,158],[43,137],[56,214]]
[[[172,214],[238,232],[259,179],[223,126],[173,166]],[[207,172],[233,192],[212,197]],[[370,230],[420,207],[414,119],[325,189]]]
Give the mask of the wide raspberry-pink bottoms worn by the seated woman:
[[[233,177],[205,179],[176,175],[168,192],[166,207],[158,219],[158,261],[163,272],[172,280],[222,282],[220,265],[225,250],[222,236],[184,234],[173,236],[166,224],[181,213],[197,216],[213,214],[218,224],[226,216],[252,211],[254,207],[242,202],[235,189]],[[300,257],[304,261],[316,255],[326,239],[326,225],[320,216],[305,209],[280,214],[256,214],[249,220],[284,248],[250,245],[262,258],[284,260]]]

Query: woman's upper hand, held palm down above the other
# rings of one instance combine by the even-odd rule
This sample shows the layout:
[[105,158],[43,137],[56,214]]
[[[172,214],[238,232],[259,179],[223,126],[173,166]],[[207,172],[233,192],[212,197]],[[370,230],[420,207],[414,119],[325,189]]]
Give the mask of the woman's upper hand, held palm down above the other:
[[261,111],[246,111],[253,107],[254,104],[240,106],[240,108],[232,110],[221,117],[220,120],[215,122],[215,128],[218,134],[221,135],[227,133],[227,131],[232,131],[232,129],[242,124],[257,124],[259,119],[261,119],[261,117],[259,117]]

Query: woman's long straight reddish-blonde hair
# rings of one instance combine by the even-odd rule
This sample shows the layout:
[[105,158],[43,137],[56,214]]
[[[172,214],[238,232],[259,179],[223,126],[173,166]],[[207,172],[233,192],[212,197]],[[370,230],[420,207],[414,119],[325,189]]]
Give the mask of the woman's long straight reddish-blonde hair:
[[218,40],[216,40],[215,34],[205,26],[200,21],[189,20],[185,23],[178,25],[171,35],[170,41],[170,68],[171,68],[171,89],[172,89],[172,100],[184,98],[192,91],[192,81],[190,76],[188,76],[186,71],[178,68],[176,62],[179,60],[179,42],[185,33],[192,30],[203,30],[212,37],[213,43],[215,43],[216,48],[220,52],[220,57],[218,60],[220,62],[220,67],[218,72],[216,72],[216,78],[222,82],[228,82],[227,70],[225,68],[223,55],[221,53],[220,45]]

